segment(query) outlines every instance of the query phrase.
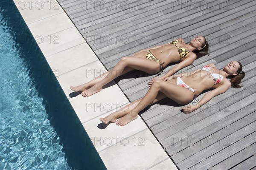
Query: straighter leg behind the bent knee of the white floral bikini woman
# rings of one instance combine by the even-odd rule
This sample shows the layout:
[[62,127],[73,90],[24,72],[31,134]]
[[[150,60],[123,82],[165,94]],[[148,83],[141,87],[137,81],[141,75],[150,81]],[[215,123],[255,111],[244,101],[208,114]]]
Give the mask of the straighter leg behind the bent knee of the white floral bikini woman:
[[[166,98],[167,96],[161,92],[159,92],[157,94],[157,97],[153,100],[153,102],[151,104],[154,104],[155,102],[158,102],[164,98]],[[142,99],[142,98],[141,98]],[[108,122],[116,122],[116,119],[118,119],[119,117],[125,116],[126,114],[128,114],[132,109],[134,109],[138,103],[140,102],[141,99],[138,99],[134,102],[131,102],[129,105],[127,105],[126,107],[120,109],[119,111],[113,112],[110,115],[108,115],[105,118],[100,118],[100,120],[105,123],[108,124]]]

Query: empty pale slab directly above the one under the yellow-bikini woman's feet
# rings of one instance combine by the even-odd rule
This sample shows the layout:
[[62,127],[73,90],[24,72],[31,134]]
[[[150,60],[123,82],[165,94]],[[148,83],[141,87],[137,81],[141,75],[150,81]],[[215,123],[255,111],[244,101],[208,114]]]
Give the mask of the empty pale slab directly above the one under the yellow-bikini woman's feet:
[[75,47],[68,48],[57,54],[53,54],[46,57],[46,59],[52,68],[52,71],[56,73],[56,76],[65,74],[68,71],[72,71],[74,68],[79,68],[83,65],[87,65],[90,62],[98,60],[86,42]]

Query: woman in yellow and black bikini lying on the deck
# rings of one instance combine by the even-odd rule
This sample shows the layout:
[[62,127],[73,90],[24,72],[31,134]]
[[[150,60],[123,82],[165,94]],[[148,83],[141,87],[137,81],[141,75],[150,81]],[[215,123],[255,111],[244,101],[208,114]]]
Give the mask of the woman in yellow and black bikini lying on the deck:
[[[144,71],[148,74],[162,72],[163,68],[171,62],[180,62],[175,65],[168,73],[158,79],[164,79],[175,74],[181,68],[191,65],[195,59],[200,58],[209,51],[209,44],[202,36],[195,37],[186,44],[182,38],[173,40],[171,43],[158,45],[152,48],[141,50],[132,57],[122,57],[116,66],[99,77],[83,85],[70,88],[78,93],[71,93],[70,97],[82,93],[83,96],[91,96],[102,90],[102,87],[111,82],[116,77],[133,70]],[[150,83],[152,83],[153,79]],[[149,83],[149,84],[150,84]]]

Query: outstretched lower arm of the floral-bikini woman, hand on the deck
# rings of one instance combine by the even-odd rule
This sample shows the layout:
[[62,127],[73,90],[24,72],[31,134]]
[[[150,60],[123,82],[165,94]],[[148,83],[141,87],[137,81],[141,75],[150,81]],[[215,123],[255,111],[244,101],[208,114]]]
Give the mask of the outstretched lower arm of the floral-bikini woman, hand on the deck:
[[196,105],[190,105],[185,108],[182,108],[183,113],[191,113],[192,111],[195,111],[196,109],[200,108],[205,103],[209,102],[210,99],[212,99],[215,96],[218,96],[219,94],[223,94],[227,91],[228,88],[230,88],[231,83],[225,82],[222,85],[220,85],[218,88],[215,88],[214,90],[210,91],[209,93],[205,94],[204,97],[198,102]]

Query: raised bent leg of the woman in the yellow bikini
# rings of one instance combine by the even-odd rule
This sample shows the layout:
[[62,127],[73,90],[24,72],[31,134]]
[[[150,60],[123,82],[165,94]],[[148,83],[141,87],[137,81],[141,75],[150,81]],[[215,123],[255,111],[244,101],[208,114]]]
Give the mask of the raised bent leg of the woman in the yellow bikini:
[[117,65],[111,71],[109,71],[109,74],[104,79],[102,79],[102,81],[96,83],[90,89],[83,91],[82,95],[91,96],[101,91],[103,85],[106,85],[108,82],[111,82],[116,77],[119,77],[122,74],[124,68],[126,67],[144,71],[148,74],[157,73],[160,70],[159,63],[151,59],[146,59],[145,56],[146,51],[136,54],[134,55],[134,57],[122,57],[117,63]]

